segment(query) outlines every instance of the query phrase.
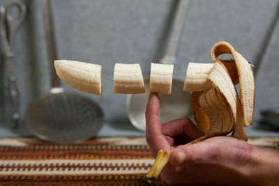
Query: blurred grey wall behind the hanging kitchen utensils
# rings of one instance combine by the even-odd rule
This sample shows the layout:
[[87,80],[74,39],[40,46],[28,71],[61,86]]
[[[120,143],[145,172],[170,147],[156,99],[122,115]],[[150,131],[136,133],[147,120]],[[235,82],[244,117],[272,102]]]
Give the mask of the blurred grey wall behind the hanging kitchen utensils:
[[[10,1],[1,0],[0,6]],[[50,91],[50,65],[40,0],[22,1],[27,15],[15,34],[15,74],[20,92],[20,125],[3,122],[3,47],[0,63],[0,135],[31,136],[24,113],[32,100]],[[131,125],[126,95],[113,92],[114,63],[140,63],[144,77],[151,62],[165,52],[169,24],[177,1],[172,0],[59,0],[50,1],[57,59],[100,64],[103,95],[66,91],[97,102],[105,114],[98,136],[143,136]],[[278,136],[278,128],[261,125],[261,111],[279,107],[278,0],[192,0],[179,46],[174,77],[184,80],[188,62],[211,63],[210,50],[226,40],[257,68],[255,123],[250,136]],[[181,87],[182,88],[182,87]],[[187,104],[187,103],[186,103]],[[279,122],[279,121],[278,121]]]

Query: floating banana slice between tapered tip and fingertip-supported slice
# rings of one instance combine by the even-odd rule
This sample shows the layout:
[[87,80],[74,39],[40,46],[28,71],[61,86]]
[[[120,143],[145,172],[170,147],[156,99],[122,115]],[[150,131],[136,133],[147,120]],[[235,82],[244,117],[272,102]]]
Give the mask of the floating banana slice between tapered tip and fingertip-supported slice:
[[115,64],[114,93],[145,93],[144,79],[139,63]]

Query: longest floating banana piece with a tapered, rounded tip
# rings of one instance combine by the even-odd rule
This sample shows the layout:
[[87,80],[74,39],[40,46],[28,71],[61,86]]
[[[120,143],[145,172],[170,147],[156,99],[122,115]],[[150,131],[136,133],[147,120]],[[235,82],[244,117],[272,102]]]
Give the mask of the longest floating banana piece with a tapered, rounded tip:
[[102,94],[102,66],[79,61],[54,61],[56,74],[68,84],[86,93]]

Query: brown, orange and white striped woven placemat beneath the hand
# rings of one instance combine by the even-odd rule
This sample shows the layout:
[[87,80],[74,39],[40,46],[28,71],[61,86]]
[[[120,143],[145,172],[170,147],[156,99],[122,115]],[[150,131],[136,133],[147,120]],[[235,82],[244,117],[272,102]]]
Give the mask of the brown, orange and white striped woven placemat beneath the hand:
[[[250,138],[249,143],[278,147],[279,139]],[[152,163],[144,138],[81,144],[0,139],[0,185],[138,185]]]

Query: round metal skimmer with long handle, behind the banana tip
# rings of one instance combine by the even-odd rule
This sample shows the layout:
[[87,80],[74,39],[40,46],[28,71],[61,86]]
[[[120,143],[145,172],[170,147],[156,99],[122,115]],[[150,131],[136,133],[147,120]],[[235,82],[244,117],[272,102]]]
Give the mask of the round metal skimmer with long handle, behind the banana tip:
[[64,93],[54,69],[56,45],[50,1],[43,0],[47,47],[50,55],[50,93],[31,102],[26,112],[29,130],[38,138],[56,142],[77,142],[93,137],[103,125],[102,109],[82,95]]

